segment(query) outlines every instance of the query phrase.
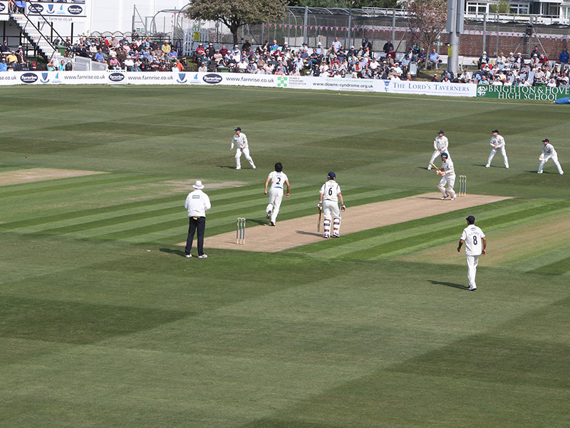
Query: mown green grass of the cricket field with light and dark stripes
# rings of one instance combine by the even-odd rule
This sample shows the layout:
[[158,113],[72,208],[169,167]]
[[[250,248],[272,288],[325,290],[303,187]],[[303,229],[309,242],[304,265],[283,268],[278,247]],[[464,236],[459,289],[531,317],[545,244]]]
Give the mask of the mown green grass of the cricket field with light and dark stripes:
[[[570,178],[536,173],[543,138],[570,170],[566,106],[219,86],[0,101],[0,173],[106,173],[0,185],[0,427],[570,427]],[[231,168],[236,126],[257,170]],[[483,167],[494,128],[509,170]],[[207,235],[264,221],[277,161],[279,220],[315,215],[329,170],[350,210],[435,191],[440,129],[468,193],[514,198],[282,253],[175,245],[180,181],[243,183],[208,190]],[[470,214],[477,292],[456,251]]]

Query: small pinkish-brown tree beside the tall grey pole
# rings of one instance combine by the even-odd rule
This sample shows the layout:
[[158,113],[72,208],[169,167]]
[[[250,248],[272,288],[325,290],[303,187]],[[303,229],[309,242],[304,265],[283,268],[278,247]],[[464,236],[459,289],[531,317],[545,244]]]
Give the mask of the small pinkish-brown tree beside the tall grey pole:
[[447,0],[408,0],[405,9],[410,17],[410,29],[419,34],[421,44],[429,54],[433,42],[447,24]]

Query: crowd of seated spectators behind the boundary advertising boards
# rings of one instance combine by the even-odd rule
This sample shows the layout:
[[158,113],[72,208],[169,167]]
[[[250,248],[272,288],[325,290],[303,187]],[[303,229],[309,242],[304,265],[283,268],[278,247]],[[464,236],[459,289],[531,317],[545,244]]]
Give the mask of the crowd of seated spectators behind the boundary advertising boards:
[[[70,58],[79,56],[103,63],[110,70],[125,71],[183,71],[187,60],[180,57],[175,46],[167,41],[152,41],[150,37],[139,36],[135,31],[130,39],[127,36],[85,38],[79,37],[72,44],[70,39],[56,40],[54,44],[64,46],[66,58],[49,61],[48,71],[70,71],[73,66]],[[22,46],[11,49],[7,41],[0,45],[0,71],[34,70],[35,63],[29,63]],[[487,52],[476,62],[477,70],[465,70],[454,76],[448,70],[435,73],[432,81],[455,83],[477,83],[479,85],[502,86],[549,86],[569,87],[569,60],[566,49],[559,54],[558,61],[551,61],[538,46],[529,59],[522,53],[504,56],[502,52],[491,59]],[[382,51],[373,52],[372,44],[363,39],[361,46],[346,49],[338,38],[330,46],[316,47],[302,44],[298,49],[280,45],[275,40],[265,42],[254,49],[245,41],[241,46],[227,49],[222,45],[214,48],[212,43],[200,43],[193,53],[193,61],[198,71],[230,71],[235,73],[276,74],[289,76],[323,76],[376,78],[383,80],[412,80],[410,67],[439,68],[442,63],[435,49],[426,54],[417,44],[410,46],[403,54],[396,54],[394,46],[387,41]]]

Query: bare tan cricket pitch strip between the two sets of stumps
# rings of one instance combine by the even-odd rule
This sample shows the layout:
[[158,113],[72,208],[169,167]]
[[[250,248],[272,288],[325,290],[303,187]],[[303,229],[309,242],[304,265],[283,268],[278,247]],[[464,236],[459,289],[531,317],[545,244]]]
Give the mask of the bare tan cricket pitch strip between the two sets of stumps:
[[[426,193],[424,195],[410,196],[395,200],[385,200],[378,203],[369,203],[351,207],[348,205],[346,212],[342,215],[341,235],[361,232],[378,228],[380,226],[402,223],[408,220],[428,217],[448,213],[450,211],[462,210],[476,205],[504,200],[501,196],[489,195],[467,195],[467,198],[457,198],[456,200],[440,200],[440,195]],[[286,201],[281,205],[281,210],[286,210]],[[205,238],[205,248],[225,248],[229,250],[261,251],[274,253],[288,248],[298,247],[322,240],[321,233],[316,232],[318,214],[307,217],[294,218],[280,222],[278,219],[275,227],[266,225],[256,225],[246,230],[245,245],[236,245],[236,234],[222,233]],[[206,226],[206,235],[208,233]],[[333,239],[333,238],[331,238]],[[340,238],[342,239],[342,237]],[[179,245],[185,245],[180,243]]]

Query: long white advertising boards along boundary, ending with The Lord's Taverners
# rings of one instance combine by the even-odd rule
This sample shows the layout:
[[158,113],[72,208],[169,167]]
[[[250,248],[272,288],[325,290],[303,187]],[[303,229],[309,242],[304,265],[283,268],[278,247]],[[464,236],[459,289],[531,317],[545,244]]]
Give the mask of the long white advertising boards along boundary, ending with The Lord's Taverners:
[[228,85],[265,88],[477,96],[477,85],[363,78],[276,76],[246,73],[179,73],[135,71],[14,71],[0,73],[1,85]]

